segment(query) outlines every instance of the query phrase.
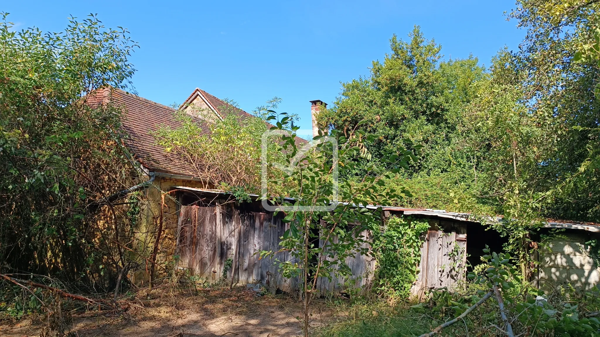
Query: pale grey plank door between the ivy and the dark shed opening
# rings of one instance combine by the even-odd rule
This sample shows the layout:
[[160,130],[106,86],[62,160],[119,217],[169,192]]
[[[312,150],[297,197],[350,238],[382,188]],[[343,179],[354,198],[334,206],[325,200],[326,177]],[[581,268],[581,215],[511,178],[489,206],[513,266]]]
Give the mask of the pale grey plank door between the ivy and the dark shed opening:
[[455,289],[466,279],[466,226],[449,223],[446,230],[427,231],[421,250],[421,266],[413,294],[422,298],[430,288]]

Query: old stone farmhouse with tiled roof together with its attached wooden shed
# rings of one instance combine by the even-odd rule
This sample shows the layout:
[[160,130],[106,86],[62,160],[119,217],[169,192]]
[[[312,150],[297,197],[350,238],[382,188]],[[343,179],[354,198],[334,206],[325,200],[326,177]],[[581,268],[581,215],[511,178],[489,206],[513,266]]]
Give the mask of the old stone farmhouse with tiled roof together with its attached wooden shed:
[[[173,120],[175,109],[111,88],[101,89],[87,100],[92,105],[110,102],[124,109],[123,128],[129,135],[124,139],[124,145],[148,181],[143,185],[143,192],[150,201],[143,209],[142,226],[160,227],[158,251],[161,261],[170,261],[179,270],[209,280],[227,276],[236,282],[262,284],[271,291],[289,291],[295,287],[294,280],[279,275],[274,260],[259,260],[254,254],[262,250],[277,250],[279,238],[286,230],[281,215],[274,216],[257,201],[242,204],[227,202],[230,195],[214,189],[211,182],[194,177],[191,170],[178,164],[179,161],[173,160],[155,144],[149,133],[157,130],[158,125],[178,126],[178,122]],[[200,89],[191,93],[181,109],[188,109],[189,104],[202,108],[202,113],[194,115],[190,110],[190,114],[207,132],[206,123],[212,119],[224,118],[232,113],[238,118],[251,116]],[[311,101],[313,115],[319,104],[323,103]],[[472,266],[478,264],[485,244],[494,251],[502,249],[502,237],[493,230],[486,230],[487,226],[472,215],[393,205],[380,207],[386,218],[414,216],[430,221],[431,228],[424,237],[421,271],[413,287],[414,293],[427,287],[460,284],[466,275],[467,262]],[[385,225],[385,220],[382,225]],[[533,278],[538,285],[571,282],[578,287],[589,288],[598,284],[598,254],[586,242],[598,239],[600,225],[548,221],[545,227],[545,230],[563,228],[564,232],[562,238],[552,240],[536,252],[539,273]],[[460,248],[458,257],[449,254],[455,247]],[[287,257],[281,253],[277,258],[285,260]],[[344,287],[368,287],[374,261],[357,255],[348,262],[353,270],[353,279],[332,282],[323,279],[319,282],[321,291],[343,292]],[[226,265],[227,272],[224,273]],[[453,267],[449,268],[449,265]],[[145,277],[134,276],[137,281]]]

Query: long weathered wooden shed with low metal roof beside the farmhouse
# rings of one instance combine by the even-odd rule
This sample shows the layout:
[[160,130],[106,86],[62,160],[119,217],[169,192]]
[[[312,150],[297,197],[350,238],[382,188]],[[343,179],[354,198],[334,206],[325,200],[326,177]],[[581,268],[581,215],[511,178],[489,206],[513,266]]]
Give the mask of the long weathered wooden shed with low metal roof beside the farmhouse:
[[[179,269],[216,281],[227,278],[235,283],[256,284],[273,293],[277,290],[292,292],[296,279],[286,279],[278,270],[278,261],[288,261],[288,252],[278,252],[268,258],[259,258],[260,251],[277,251],[280,237],[289,228],[282,222],[283,213],[263,209],[260,201],[236,203],[232,195],[221,191],[173,187],[179,191],[176,256]],[[256,196],[254,196],[256,198]],[[428,219],[430,228],[424,234],[419,273],[412,293],[419,298],[430,288],[462,287],[469,266],[481,263],[486,245],[500,252],[506,239],[487,228],[472,215],[445,210],[381,207],[384,220],[389,216],[410,215]],[[548,228],[568,230],[539,249],[540,267],[535,275],[539,285],[571,281],[586,288],[600,281],[598,268],[590,245],[584,242],[596,237],[600,227],[581,227],[576,224],[548,223]],[[583,231],[582,231],[583,230]],[[368,237],[370,233],[363,234]],[[468,241],[467,241],[468,240]],[[321,278],[317,281],[321,293],[343,293],[348,287],[365,288],[371,284],[376,263],[367,255],[356,254],[347,264],[352,269],[350,279]]]

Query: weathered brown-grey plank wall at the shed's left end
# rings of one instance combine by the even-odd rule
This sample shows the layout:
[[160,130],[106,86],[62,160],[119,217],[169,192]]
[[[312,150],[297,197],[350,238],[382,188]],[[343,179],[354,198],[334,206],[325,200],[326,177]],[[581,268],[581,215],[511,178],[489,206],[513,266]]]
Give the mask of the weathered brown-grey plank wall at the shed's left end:
[[242,284],[260,283],[272,291],[288,291],[290,282],[281,277],[275,261],[289,260],[289,253],[262,259],[258,254],[280,248],[279,238],[287,229],[280,218],[252,209],[241,211],[227,202],[182,206],[177,234],[178,266],[211,281],[226,276]]

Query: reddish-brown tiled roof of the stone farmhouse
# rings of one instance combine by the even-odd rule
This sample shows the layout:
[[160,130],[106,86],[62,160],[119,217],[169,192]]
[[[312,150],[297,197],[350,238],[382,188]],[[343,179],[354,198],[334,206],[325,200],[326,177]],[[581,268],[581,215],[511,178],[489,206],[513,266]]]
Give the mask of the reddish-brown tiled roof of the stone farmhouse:
[[[222,117],[230,113],[234,113],[240,118],[253,116],[200,89],[196,89],[188,100],[193,98],[197,92],[200,92]],[[125,146],[127,146],[134,155],[134,158],[145,166],[146,169],[157,173],[177,174],[181,176],[193,177],[195,175],[185,164],[176,160],[173,155],[165,152],[163,147],[156,145],[154,136],[150,134],[152,131],[158,130],[161,125],[171,128],[181,126],[181,123],[174,121],[173,118],[174,113],[177,111],[176,109],[115,88],[98,89],[94,94],[85,97],[85,100],[92,107],[112,102],[113,105],[124,109],[122,127],[127,133],[127,137],[124,139]],[[194,119],[202,130],[208,134],[209,129],[206,122],[199,118]],[[272,127],[271,124],[268,125]],[[296,143],[298,145],[307,143],[299,137],[297,139]]]

